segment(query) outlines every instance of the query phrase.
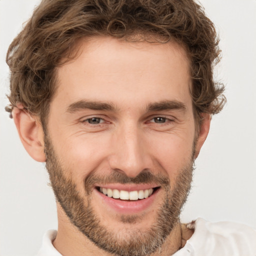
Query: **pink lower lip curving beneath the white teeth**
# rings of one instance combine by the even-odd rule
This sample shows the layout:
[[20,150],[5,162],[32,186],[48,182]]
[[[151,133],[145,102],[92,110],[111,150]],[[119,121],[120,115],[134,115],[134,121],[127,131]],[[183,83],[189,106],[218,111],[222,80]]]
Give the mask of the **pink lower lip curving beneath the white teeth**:
[[141,211],[145,211],[148,209],[152,204],[153,201],[158,194],[160,189],[156,189],[149,197],[141,199],[141,200],[119,200],[114,199],[113,197],[108,197],[103,193],[99,192],[96,188],[94,188],[94,192],[111,208],[119,213],[139,213]]

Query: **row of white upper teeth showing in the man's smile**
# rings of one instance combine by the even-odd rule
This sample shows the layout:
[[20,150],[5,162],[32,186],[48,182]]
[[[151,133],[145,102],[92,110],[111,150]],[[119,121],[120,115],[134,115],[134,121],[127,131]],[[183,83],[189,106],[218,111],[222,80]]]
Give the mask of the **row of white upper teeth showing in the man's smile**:
[[99,187],[99,191],[107,195],[108,197],[113,197],[115,199],[120,198],[122,200],[137,200],[147,198],[148,196],[150,196],[153,192],[153,188],[144,190],[125,191]]

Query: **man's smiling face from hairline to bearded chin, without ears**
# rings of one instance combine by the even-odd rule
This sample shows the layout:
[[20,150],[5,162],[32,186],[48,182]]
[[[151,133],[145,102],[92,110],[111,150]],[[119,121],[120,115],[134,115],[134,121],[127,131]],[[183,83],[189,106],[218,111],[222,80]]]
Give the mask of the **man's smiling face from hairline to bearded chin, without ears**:
[[57,68],[44,127],[54,193],[100,248],[149,254],[177,223],[191,181],[187,57],[175,43],[96,37],[77,46],[79,55]]

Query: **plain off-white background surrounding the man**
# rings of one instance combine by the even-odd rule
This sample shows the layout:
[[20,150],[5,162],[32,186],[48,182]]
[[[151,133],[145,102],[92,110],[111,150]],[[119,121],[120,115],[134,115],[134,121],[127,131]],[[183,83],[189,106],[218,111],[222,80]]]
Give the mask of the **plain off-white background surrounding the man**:
[[[34,255],[46,229],[57,228],[54,196],[42,163],[19,141],[7,104],[11,40],[38,0],[0,0],[0,256]],[[256,1],[202,0],[220,34],[216,76],[227,105],[212,119],[196,160],[181,219],[232,220],[256,228]]]

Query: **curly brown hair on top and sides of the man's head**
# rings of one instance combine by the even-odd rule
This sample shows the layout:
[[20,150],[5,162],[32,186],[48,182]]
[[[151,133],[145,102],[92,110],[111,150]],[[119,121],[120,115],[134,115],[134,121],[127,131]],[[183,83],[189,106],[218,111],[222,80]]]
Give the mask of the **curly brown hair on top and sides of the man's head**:
[[55,67],[70,59],[78,39],[97,35],[175,40],[190,60],[195,116],[222,109],[224,88],[213,80],[213,66],[220,59],[218,37],[193,0],[42,0],[7,52],[11,75],[6,111],[22,103],[45,121],[56,89]]

